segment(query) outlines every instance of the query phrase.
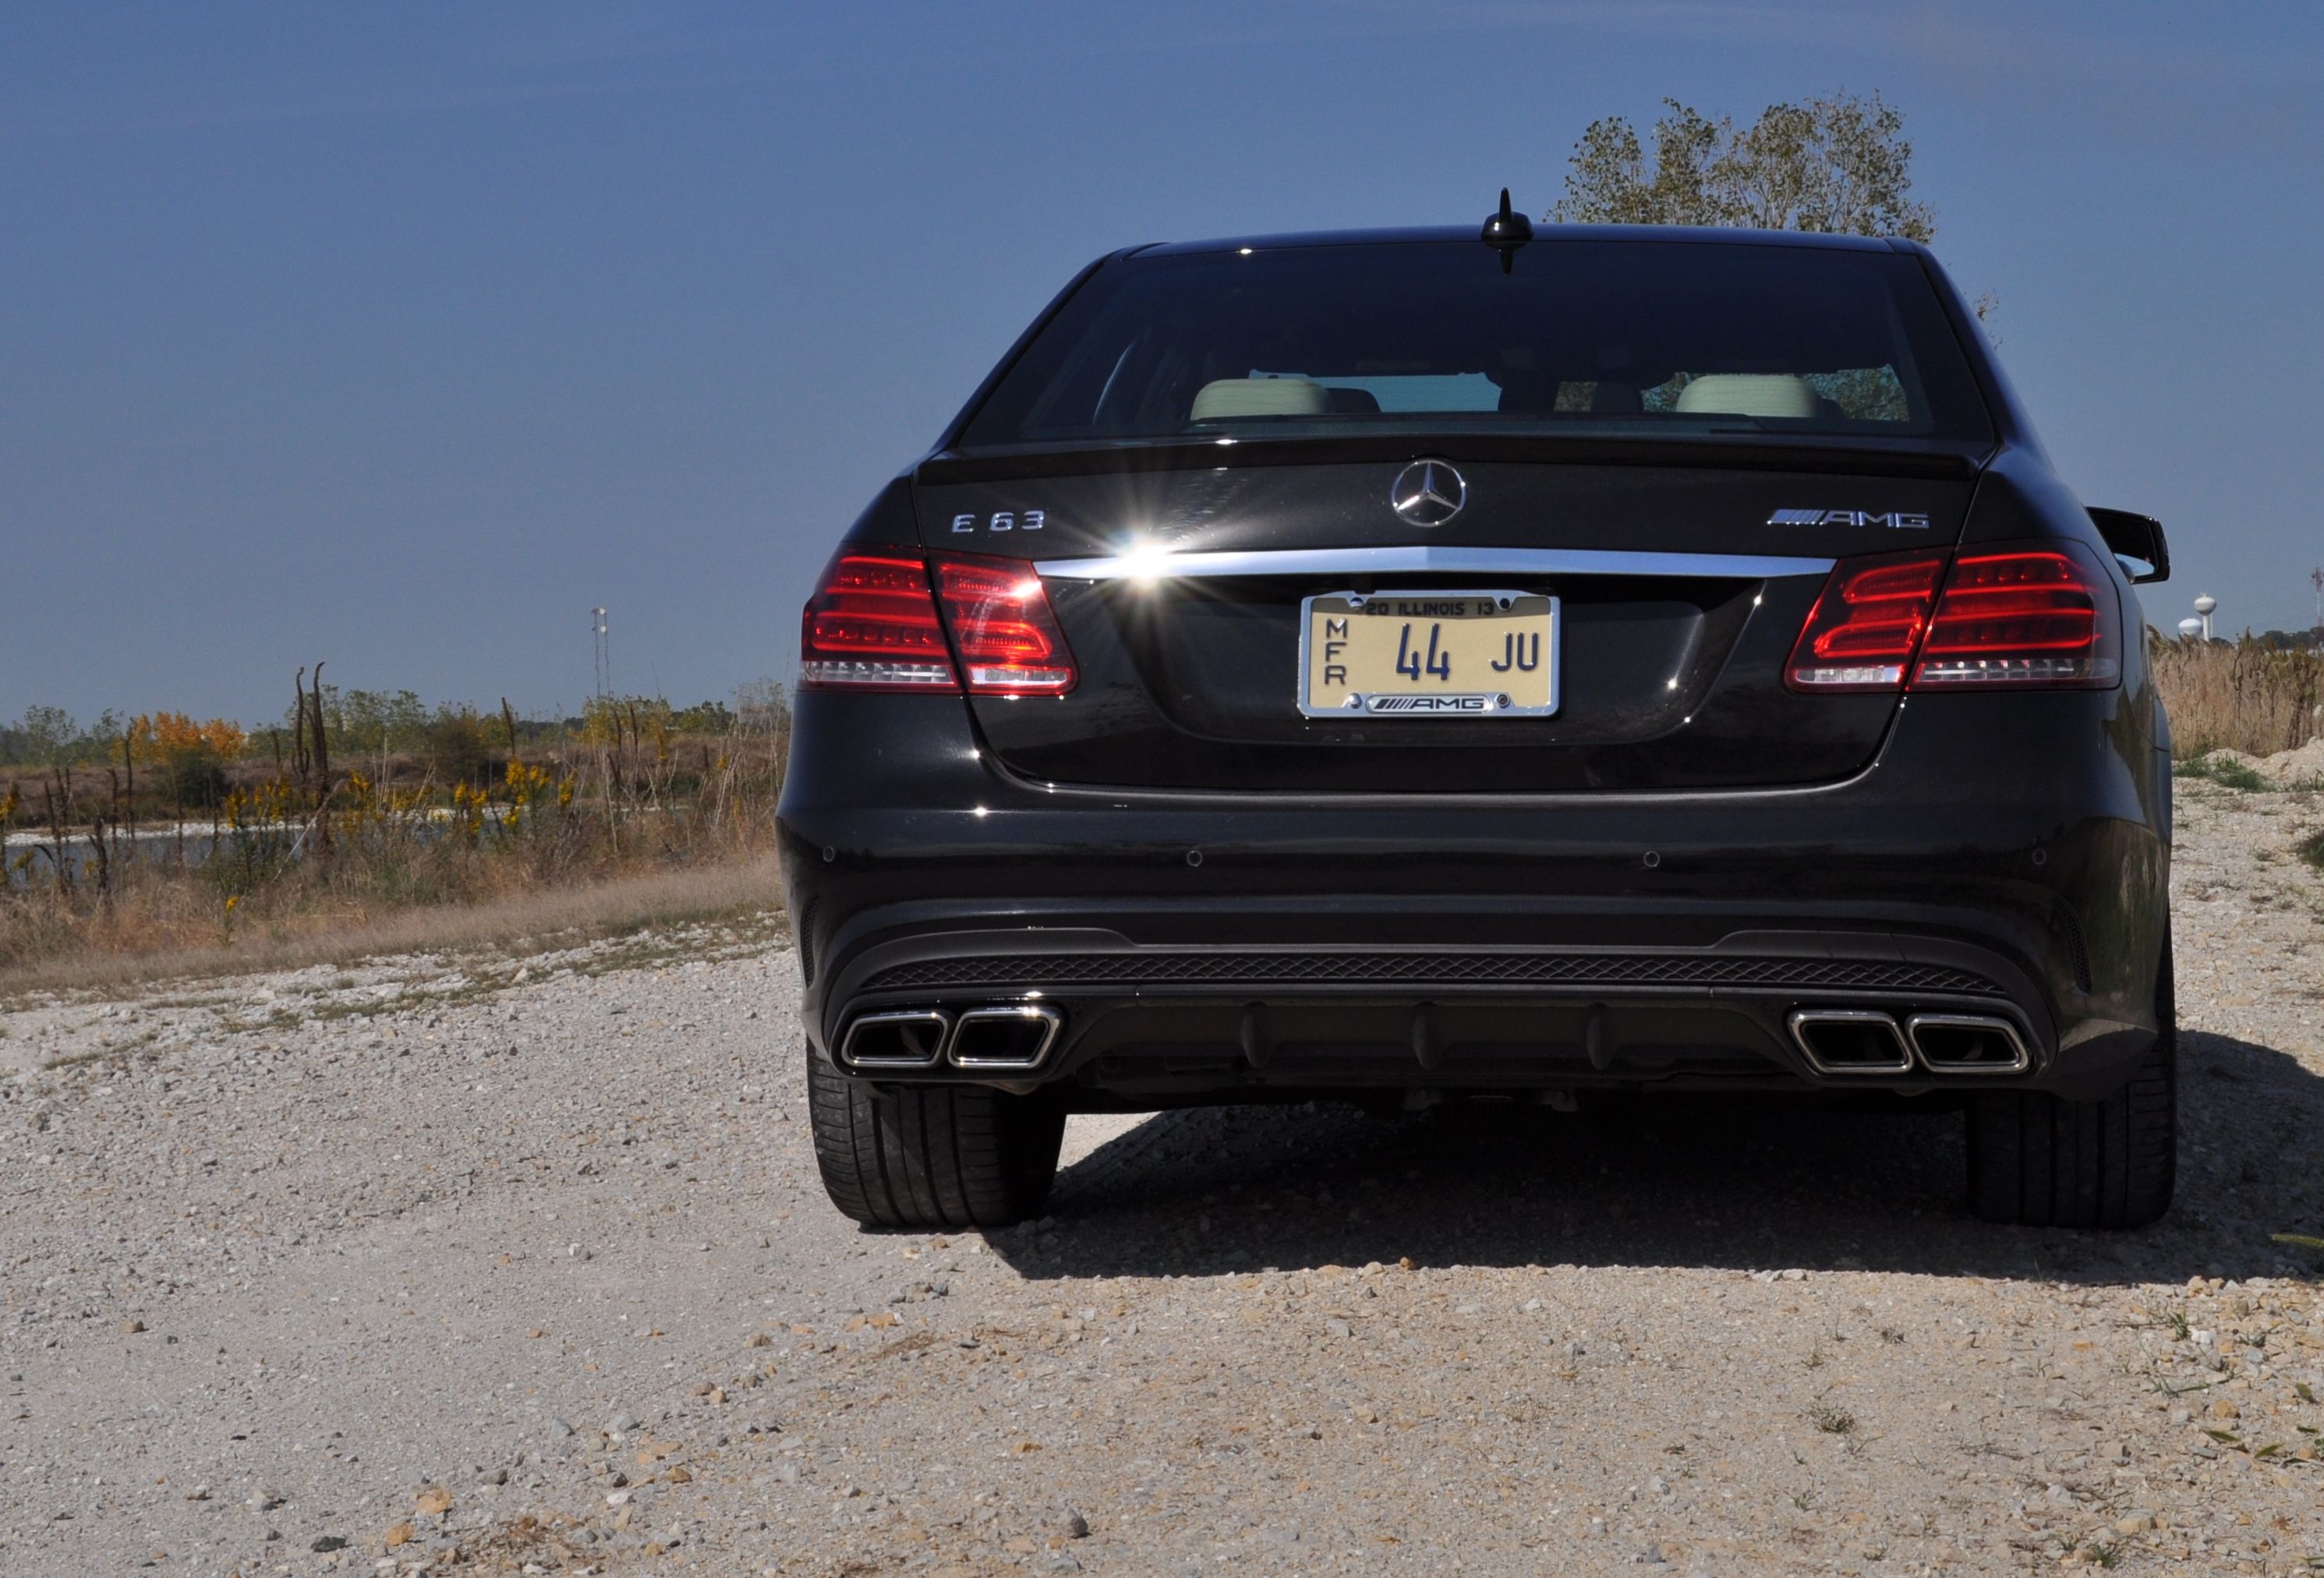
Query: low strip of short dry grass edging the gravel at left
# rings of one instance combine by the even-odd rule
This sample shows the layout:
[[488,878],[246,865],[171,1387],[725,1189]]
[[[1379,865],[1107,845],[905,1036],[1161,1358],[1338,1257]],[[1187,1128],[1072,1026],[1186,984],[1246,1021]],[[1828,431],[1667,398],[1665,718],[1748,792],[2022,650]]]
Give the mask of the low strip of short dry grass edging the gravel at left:
[[607,876],[586,885],[511,892],[479,904],[381,909],[370,916],[300,911],[267,937],[232,946],[79,948],[0,969],[0,999],[21,992],[102,990],[132,981],[237,976],[307,964],[349,964],[393,953],[537,953],[639,927],[772,916],[781,885],[772,855],[734,865]]

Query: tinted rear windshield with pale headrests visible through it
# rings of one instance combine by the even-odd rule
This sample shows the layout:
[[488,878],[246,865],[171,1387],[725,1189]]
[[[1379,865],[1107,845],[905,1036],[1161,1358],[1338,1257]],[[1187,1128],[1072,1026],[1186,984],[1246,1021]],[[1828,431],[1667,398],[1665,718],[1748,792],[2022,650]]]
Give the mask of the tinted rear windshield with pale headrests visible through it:
[[1910,256],[1538,239],[1111,263],[960,442],[1383,430],[1992,437]]

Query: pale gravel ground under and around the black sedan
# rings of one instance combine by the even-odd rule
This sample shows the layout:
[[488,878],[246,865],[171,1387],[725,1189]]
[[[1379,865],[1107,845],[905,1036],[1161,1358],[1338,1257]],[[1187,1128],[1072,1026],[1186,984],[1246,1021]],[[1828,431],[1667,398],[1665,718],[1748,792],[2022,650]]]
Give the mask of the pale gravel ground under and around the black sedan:
[[1734,1104],[1076,1118],[862,1234],[748,930],[16,1004],[0,1571],[2310,1571],[2319,823],[2185,786],[2140,1234]]

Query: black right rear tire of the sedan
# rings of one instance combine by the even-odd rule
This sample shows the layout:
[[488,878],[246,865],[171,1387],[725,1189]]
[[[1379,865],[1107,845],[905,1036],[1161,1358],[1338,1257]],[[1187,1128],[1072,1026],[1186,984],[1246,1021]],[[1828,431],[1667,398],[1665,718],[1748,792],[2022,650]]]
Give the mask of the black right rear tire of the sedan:
[[2171,941],[2154,978],[2159,1034],[2103,1102],[1987,1090],[1968,1104],[1968,1208],[2027,1227],[2145,1227],[2178,1181],[2178,1002]]

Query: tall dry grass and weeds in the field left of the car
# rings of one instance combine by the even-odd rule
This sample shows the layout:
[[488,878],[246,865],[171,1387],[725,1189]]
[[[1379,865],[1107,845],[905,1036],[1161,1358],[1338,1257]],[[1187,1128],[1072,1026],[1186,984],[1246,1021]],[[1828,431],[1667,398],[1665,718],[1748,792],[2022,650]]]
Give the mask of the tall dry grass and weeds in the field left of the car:
[[230,786],[202,825],[144,841],[58,772],[37,844],[0,867],[0,990],[772,909],[781,723],[681,737],[625,716],[523,753],[511,727],[507,755],[449,786],[302,751]]

